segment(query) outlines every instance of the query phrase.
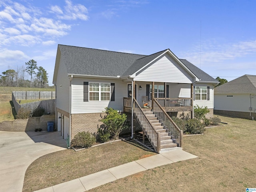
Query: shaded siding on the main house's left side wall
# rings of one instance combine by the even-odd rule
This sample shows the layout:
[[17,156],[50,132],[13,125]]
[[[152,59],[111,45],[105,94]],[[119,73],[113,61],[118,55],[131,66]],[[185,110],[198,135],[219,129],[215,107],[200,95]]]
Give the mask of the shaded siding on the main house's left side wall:
[[70,81],[63,58],[60,59],[56,80],[56,107],[69,113],[70,108]]

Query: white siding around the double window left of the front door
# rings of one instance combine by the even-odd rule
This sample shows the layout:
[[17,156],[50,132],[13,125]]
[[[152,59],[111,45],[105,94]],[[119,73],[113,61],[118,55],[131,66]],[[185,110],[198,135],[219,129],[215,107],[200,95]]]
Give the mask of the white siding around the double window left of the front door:
[[[115,83],[115,101],[88,101],[84,102],[84,82]],[[123,111],[124,97],[126,97],[127,82],[116,79],[73,78],[72,80],[71,113],[100,113],[106,107]]]

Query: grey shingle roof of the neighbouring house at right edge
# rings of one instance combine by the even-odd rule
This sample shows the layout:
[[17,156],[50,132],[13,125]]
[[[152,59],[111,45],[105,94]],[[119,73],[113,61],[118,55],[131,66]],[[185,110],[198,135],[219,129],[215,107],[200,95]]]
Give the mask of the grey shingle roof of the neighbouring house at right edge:
[[256,75],[243,75],[214,88],[214,94],[256,94]]

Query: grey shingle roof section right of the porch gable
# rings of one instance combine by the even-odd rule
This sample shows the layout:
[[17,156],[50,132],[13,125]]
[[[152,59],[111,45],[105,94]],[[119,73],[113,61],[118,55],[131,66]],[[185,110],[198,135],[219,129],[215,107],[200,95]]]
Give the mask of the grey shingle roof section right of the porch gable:
[[200,79],[200,81],[208,81],[208,82],[218,82],[216,79],[208,75],[206,72],[201,70],[200,68],[194,66],[192,63],[187,61],[186,59],[180,59],[180,61],[195,75]]

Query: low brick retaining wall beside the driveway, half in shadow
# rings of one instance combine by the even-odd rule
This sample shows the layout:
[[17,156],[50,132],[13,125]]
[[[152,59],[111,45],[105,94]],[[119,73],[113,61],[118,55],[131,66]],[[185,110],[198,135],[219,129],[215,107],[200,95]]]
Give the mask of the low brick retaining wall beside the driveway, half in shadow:
[[[15,119],[13,121],[4,121],[0,123],[0,131],[34,131],[35,128],[41,128],[47,131],[47,122],[55,122],[55,115],[42,115],[40,117],[30,117],[28,119]],[[55,128],[55,123],[54,123]]]

